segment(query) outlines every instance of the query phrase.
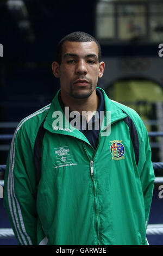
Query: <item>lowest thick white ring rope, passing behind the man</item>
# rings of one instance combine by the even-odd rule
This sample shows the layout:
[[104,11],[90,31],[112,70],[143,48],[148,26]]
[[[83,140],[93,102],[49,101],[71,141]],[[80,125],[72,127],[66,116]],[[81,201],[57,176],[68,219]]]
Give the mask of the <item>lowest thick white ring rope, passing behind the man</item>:
[[[163,224],[148,224],[147,235],[163,235]],[[11,228],[0,228],[0,239],[14,238],[14,232]]]

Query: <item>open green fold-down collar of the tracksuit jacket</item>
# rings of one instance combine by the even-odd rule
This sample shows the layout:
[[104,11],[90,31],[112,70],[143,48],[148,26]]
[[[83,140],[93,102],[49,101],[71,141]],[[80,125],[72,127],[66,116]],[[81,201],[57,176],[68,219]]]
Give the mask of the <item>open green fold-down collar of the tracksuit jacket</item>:
[[[126,118],[127,115],[122,111],[122,109],[119,106],[117,106],[117,104],[115,104],[112,100],[109,99],[109,97],[105,94],[102,88],[97,88],[101,90],[104,97],[105,114],[101,125],[101,131],[104,131],[106,127],[109,127],[111,124],[115,123],[118,120]],[[60,90],[58,90],[57,94],[54,96],[54,99],[52,100],[51,107],[49,109],[43,127],[45,127],[45,129],[48,130],[49,132],[74,136],[89,143],[84,134],[79,130],[75,129],[68,122],[66,115],[62,110],[58,100],[59,92]],[[68,108],[66,112],[67,114],[69,113]],[[59,121],[59,123],[57,123],[57,121]]]

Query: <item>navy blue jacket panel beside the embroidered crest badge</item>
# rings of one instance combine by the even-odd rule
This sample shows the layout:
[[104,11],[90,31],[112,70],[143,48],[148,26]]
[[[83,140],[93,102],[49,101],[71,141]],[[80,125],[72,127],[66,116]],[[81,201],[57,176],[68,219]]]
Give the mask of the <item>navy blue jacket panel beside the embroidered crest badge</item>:
[[[124,112],[124,113],[127,114],[126,112]],[[136,160],[136,165],[137,165],[139,163],[139,137],[137,134],[137,130],[136,130],[133,120],[129,117],[128,114],[127,114],[127,117],[124,119],[124,122],[129,127],[130,137],[131,137],[131,141],[133,143],[134,152],[135,152],[135,160]]]

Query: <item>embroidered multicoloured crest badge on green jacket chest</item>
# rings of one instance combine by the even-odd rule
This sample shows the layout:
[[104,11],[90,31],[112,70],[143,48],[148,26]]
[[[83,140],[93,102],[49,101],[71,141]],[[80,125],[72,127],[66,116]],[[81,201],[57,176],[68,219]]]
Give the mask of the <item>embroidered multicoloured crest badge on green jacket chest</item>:
[[124,146],[122,141],[110,141],[112,144],[110,146],[110,152],[112,155],[112,160],[124,159]]

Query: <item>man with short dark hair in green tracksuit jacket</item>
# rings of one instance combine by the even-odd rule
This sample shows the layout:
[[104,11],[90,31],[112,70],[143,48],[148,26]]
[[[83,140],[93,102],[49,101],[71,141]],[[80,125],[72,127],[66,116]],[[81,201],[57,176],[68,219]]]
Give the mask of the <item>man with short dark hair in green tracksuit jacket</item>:
[[96,87],[104,66],[95,38],[65,36],[52,64],[61,89],[17,126],[4,203],[22,245],[147,244],[148,133],[133,109]]

